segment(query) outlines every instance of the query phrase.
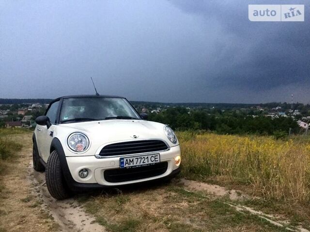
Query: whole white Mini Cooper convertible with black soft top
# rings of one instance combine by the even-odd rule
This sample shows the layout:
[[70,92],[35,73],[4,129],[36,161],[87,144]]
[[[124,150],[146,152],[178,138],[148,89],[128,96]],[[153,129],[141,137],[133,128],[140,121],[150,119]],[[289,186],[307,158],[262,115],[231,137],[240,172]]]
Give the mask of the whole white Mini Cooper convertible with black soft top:
[[178,140],[170,127],[146,117],[122,97],[58,98],[35,120],[33,168],[45,170],[56,199],[85,188],[170,179],[180,171]]

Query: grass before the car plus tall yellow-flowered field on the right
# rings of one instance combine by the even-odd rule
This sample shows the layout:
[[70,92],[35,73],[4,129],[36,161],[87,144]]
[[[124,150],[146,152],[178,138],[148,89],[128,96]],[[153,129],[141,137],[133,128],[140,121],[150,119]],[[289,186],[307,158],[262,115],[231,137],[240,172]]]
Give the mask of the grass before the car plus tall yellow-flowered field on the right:
[[[310,229],[308,137],[284,141],[188,131],[179,131],[177,136],[182,150],[179,181],[110,189],[77,200],[111,232],[287,231],[232,205],[277,215],[293,229]],[[182,178],[199,181],[198,186],[213,183],[250,196],[236,200],[188,190]]]

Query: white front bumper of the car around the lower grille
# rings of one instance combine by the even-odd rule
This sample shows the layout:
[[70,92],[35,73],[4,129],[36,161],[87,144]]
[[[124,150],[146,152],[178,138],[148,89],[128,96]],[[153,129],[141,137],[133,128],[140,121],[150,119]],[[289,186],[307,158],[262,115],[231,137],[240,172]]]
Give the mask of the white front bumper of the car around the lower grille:
[[[119,159],[120,157],[113,157],[113,158],[102,158],[98,159],[95,156],[75,156],[75,157],[66,157],[66,162],[68,168],[70,170],[70,174],[75,183],[70,183],[74,185],[75,188],[97,188],[103,186],[120,186],[120,185],[128,185],[128,184],[135,184],[144,181],[151,181],[155,179],[161,179],[165,177],[170,177],[175,175],[179,172],[179,166],[175,165],[174,158],[181,155],[180,146],[173,146],[170,147],[169,150],[163,152],[154,152],[154,154],[160,154],[160,161],[167,162],[168,168],[164,174],[156,175],[149,178],[143,178],[131,181],[124,181],[124,182],[117,182],[112,183],[108,182],[104,178],[104,172],[109,169],[119,169]],[[147,153],[151,154],[151,153]],[[143,155],[143,154],[139,154]],[[131,155],[128,155],[131,156]],[[124,157],[124,156],[123,156]],[[86,168],[89,171],[89,174],[86,178],[80,178],[78,172]],[[70,185],[69,185],[70,187]]]

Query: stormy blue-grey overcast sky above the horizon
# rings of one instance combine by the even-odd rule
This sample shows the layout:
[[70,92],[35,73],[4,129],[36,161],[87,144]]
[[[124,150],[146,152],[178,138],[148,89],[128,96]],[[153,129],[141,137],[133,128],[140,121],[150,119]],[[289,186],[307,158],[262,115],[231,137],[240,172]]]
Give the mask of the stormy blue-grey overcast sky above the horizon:
[[[305,4],[250,22],[248,4]],[[0,0],[0,98],[310,102],[309,0]]]

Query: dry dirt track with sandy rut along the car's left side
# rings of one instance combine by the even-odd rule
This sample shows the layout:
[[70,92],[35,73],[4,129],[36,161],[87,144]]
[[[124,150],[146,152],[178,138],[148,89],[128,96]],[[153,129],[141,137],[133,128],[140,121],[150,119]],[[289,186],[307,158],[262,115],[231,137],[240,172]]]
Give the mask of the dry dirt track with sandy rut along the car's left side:
[[8,164],[1,183],[0,232],[104,232],[73,198],[56,201],[49,195],[45,174],[32,168],[31,134],[12,138],[24,141],[24,147]]

